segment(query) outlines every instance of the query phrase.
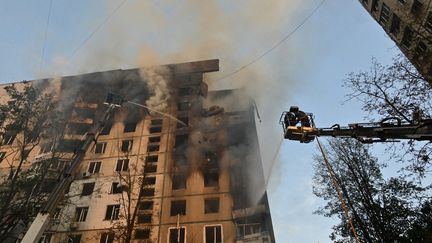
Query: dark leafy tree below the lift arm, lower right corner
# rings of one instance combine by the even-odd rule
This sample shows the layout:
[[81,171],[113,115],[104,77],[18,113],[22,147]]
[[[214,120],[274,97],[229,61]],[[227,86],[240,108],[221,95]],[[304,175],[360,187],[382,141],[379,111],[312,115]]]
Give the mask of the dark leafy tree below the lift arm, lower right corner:
[[[417,242],[412,239],[413,235],[431,232],[430,224],[419,223],[430,215],[427,210],[421,210],[431,203],[430,199],[424,199],[425,188],[402,178],[384,179],[382,165],[371,155],[369,147],[357,140],[331,139],[326,150],[361,242]],[[341,222],[333,227],[331,239],[352,242],[348,219],[323,165],[323,158],[315,156],[314,160],[313,191],[327,201],[316,213],[339,217]]]

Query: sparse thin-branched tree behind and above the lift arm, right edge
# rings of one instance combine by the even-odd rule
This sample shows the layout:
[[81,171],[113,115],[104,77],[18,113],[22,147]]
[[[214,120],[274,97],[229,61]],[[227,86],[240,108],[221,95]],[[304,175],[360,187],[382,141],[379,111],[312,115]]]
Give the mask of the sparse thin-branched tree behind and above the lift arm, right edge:
[[[402,54],[387,66],[373,59],[369,71],[350,73],[344,86],[351,90],[348,100],[360,101],[371,121],[398,117],[406,123],[415,124],[419,115],[422,119],[432,117],[432,87]],[[410,140],[392,143],[388,149],[397,151],[392,153],[394,159],[410,162],[406,166],[409,173],[423,178],[430,169],[430,142]]]

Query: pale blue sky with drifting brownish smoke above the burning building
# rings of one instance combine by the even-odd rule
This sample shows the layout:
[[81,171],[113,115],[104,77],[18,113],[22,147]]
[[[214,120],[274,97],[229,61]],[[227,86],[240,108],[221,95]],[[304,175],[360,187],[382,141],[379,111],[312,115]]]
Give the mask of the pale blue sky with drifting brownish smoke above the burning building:
[[331,242],[334,221],[313,214],[323,204],[312,194],[316,144],[282,141],[278,121],[291,105],[318,127],[363,121],[360,104],[344,102],[344,78],[399,51],[359,1],[326,0],[294,32],[321,0],[0,2],[1,83],[220,59],[209,87],[243,88],[257,101],[277,242]]

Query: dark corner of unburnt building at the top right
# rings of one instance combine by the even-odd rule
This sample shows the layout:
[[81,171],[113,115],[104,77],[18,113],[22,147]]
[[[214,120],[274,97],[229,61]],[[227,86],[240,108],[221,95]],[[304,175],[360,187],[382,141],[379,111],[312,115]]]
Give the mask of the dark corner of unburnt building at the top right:
[[432,1],[359,1],[432,84]]

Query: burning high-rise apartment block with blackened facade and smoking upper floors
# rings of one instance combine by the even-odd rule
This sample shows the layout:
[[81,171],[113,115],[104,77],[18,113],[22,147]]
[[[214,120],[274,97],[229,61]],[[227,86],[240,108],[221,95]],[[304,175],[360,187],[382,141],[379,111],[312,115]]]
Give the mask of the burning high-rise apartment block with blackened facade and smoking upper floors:
[[[124,98],[73,171],[40,242],[275,242],[253,102],[241,90],[209,91],[204,75],[218,70],[218,60],[206,60],[31,81],[54,90],[66,121],[22,164],[29,178],[43,166],[52,173],[32,195],[53,193],[107,109],[107,94]],[[2,135],[0,173],[9,175],[22,143],[19,134]],[[2,230],[15,242],[30,223]]]

